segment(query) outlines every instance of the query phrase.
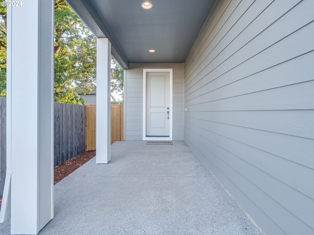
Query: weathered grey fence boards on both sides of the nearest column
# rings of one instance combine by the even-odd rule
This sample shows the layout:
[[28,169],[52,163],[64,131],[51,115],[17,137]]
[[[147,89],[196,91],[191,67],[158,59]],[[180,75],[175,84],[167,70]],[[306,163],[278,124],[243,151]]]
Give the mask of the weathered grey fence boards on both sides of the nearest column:
[[[6,174],[6,97],[0,97],[0,195]],[[85,106],[54,103],[54,165],[85,151]]]

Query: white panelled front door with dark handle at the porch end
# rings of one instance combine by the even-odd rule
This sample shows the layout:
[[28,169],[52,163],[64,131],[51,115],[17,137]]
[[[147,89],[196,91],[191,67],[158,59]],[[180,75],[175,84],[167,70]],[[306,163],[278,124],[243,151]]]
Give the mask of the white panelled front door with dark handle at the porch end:
[[170,92],[172,79],[170,79],[170,71],[147,71],[145,75],[144,115],[146,123],[143,126],[145,128],[144,140],[170,140],[172,138],[170,129],[172,126],[172,92]]

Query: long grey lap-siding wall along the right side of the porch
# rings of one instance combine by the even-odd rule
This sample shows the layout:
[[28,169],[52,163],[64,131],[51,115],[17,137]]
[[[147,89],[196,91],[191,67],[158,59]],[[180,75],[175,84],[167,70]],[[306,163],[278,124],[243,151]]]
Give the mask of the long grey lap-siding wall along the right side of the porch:
[[184,140],[267,235],[314,234],[314,4],[217,0],[184,63]]

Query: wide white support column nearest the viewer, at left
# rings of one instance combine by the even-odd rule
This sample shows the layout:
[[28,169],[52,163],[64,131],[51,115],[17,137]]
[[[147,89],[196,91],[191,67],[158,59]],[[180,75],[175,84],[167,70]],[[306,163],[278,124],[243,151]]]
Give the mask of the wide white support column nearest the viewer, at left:
[[53,218],[53,0],[7,8],[11,234]]

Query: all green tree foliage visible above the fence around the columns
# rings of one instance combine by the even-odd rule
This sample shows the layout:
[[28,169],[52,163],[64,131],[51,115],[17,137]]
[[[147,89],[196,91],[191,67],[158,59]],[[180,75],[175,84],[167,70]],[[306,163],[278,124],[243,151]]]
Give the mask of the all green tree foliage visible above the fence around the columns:
[[[1,0],[2,2],[3,0]],[[111,92],[123,95],[123,69],[112,58]],[[84,104],[96,88],[96,37],[65,0],[54,1],[54,101]],[[0,6],[0,96],[6,95],[6,7]]]

